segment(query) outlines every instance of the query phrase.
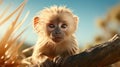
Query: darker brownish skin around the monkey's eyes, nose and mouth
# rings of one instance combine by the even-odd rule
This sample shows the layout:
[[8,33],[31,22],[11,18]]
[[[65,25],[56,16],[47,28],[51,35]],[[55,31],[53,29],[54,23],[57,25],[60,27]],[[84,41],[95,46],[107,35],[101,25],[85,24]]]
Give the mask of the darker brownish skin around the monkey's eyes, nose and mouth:
[[50,32],[49,36],[54,42],[60,42],[65,37],[65,30],[67,29],[67,24],[61,20],[54,19],[48,24],[48,30]]

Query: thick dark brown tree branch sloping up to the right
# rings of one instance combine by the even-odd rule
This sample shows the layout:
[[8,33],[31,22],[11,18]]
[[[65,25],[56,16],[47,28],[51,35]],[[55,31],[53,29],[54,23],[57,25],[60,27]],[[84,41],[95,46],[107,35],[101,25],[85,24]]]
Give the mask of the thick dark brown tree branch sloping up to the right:
[[104,67],[120,60],[120,35],[64,60],[61,67]]

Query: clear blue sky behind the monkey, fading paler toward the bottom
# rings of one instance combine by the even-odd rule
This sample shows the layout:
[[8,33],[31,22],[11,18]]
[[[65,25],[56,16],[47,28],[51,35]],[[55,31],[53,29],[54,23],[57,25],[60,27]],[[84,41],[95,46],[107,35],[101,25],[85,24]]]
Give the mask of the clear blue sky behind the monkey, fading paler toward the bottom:
[[[12,3],[12,9],[15,9],[23,0],[4,0],[4,6]],[[30,14],[25,22],[32,23],[33,16],[43,9],[52,5],[65,5],[73,10],[79,19],[76,37],[80,46],[84,46],[93,40],[94,36],[100,31],[95,25],[96,19],[101,17],[109,11],[112,6],[120,4],[120,0],[28,0],[23,15],[30,11]],[[27,42],[35,44],[37,35],[33,31],[32,25],[24,34],[27,36]]]

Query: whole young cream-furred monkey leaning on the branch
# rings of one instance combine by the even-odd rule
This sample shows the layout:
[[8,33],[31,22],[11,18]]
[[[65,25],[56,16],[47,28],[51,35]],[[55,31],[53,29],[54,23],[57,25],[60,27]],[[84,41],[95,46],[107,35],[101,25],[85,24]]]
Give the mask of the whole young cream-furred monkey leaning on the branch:
[[67,58],[78,53],[74,36],[78,17],[65,6],[52,6],[41,10],[33,18],[38,41],[33,48],[32,61],[42,64],[46,59]]

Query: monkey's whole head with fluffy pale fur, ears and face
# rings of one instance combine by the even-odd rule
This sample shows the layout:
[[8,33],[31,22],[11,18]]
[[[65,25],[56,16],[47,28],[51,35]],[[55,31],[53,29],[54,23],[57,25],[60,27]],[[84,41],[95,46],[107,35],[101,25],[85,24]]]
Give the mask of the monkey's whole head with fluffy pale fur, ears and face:
[[77,25],[78,17],[64,6],[45,8],[33,18],[37,33],[57,43],[69,38]]

